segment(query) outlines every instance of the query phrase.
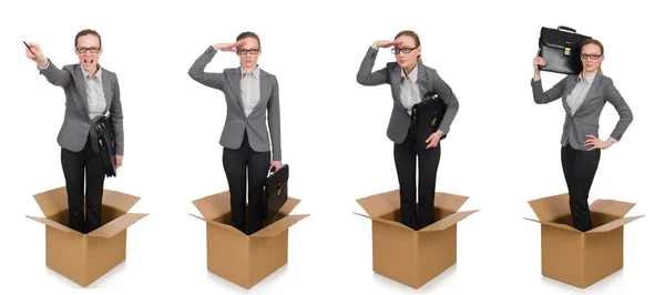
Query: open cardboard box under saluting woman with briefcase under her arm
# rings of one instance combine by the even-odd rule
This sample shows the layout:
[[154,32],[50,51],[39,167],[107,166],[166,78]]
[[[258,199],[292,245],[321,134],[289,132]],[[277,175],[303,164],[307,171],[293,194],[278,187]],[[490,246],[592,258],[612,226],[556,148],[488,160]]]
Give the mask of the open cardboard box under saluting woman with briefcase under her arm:
[[399,191],[357,200],[370,218],[372,268],[377,274],[420,288],[457,263],[457,223],[478,212],[458,210],[469,197],[437,193],[434,223],[413,231],[399,222]]

